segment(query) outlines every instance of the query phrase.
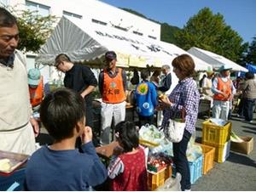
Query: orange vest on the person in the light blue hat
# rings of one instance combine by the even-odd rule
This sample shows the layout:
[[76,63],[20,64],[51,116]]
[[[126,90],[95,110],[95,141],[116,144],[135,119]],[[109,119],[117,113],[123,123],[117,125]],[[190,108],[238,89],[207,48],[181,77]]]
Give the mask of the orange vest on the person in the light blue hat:
[[43,97],[44,97],[44,82],[43,77],[41,76],[40,82],[37,88],[31,88],[29,86],[29,94],[30,94],[30,103],[32,107],[41,104]]

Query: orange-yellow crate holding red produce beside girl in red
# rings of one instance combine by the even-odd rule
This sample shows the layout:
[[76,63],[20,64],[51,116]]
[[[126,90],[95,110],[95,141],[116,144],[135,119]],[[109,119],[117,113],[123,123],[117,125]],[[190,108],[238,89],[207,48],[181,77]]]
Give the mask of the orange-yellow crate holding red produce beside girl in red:
[[167,166],[160,172],[148,172],[148,190],[155,190],[165,184],[167,178],[172,176],[172,167]]

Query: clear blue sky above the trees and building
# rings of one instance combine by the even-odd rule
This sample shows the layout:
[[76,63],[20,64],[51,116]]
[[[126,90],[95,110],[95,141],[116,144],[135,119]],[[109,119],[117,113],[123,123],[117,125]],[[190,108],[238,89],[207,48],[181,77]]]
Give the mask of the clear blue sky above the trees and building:
[[182,28],[201,8],[223,14],[227,25],[244,42],[256,37],[256,0],[100,0],[118,8],[131,8],[146,17]]

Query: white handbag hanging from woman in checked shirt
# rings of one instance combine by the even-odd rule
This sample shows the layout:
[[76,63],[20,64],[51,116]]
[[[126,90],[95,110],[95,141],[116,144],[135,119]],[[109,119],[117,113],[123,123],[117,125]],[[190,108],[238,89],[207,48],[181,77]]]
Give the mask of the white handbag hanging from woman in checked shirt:
[[174,120],[169,120],[169,125],[164,129],[165,137],[172,143],[178,143],[183,138],[183,133],[185,129],[185,110],[181,110],[181,118],[175,118]]

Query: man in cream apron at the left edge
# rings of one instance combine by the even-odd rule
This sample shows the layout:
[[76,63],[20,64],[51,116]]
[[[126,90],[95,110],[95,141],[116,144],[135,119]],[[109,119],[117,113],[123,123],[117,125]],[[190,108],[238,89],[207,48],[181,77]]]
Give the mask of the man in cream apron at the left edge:
[[32,155],[38,121],[32,117],[26,58],[18,51],[15,16],[0,8],[0,150]]

